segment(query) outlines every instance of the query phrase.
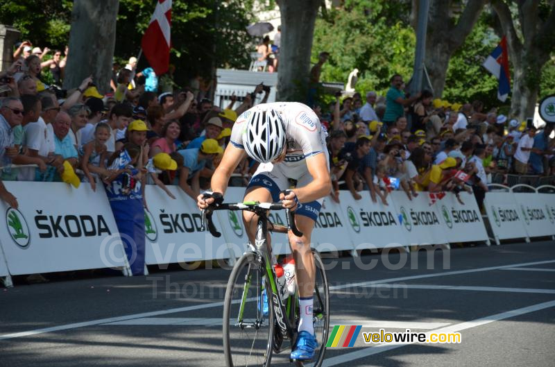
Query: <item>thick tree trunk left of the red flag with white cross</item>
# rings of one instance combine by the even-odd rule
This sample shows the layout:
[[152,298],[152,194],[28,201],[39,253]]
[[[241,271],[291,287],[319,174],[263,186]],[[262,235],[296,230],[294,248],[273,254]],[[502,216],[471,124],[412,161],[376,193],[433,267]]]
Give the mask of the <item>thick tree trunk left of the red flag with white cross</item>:
[[65,89],[78,87],[90,75],[99,92],[110,89],[118,8],[119,0],[74,1]]

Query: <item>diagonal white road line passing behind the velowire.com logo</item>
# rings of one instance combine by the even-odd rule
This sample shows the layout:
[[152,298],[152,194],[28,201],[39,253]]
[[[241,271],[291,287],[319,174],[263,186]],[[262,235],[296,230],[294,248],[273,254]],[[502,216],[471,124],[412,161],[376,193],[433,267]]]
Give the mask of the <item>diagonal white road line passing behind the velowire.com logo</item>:
[[[539,311],[540,309],[547,309],[549,307],[555,307],[555,300],[549,302],[538,303],[537,305],[532,305],[528,307],[522,307],[520,309],[512,309],[511,311],[502,312],[500,314],[494,314],[486,316],[483,318],[477,318],[476,320],[466,321],[465,323],[459,323],[450,325],[447,327],[441,327],[440,329],[433,330],[431,332],[426,332],[427,338],[429,334],[432,333],[449,333],[449,332],[461,332],[463,330],[470,329],[472,327],[477,327],[481,325],[486,325],[488,323],[493,323],[494,321],[504,320],[505,318],[511,318],[515,316],[520,316],[523,314],[529,314],[530,312]],[[344,355],[339,355],[336,357],[331,357],[324,360],[322,364],[323,367],[337,366],[338,364],[345,364],[351,362],[355,359],[360,359],[368,357],[370,355],[377,355],[379,353],[386,352],[388,350],[393,350],[401,348],[404,345],[411,345],[413,343],[384,343],[376,345],[375,347],[364,348],[361,350],[355,350],[355,352],[346,353]]]

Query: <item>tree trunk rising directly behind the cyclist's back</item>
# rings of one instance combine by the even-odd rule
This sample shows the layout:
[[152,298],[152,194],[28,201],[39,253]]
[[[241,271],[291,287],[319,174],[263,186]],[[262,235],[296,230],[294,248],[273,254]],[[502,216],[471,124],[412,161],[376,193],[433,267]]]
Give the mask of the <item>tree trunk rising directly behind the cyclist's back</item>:
[[305,102],[310,71],[314,23],[320,0],[279,0],[282,43],[278,101]]

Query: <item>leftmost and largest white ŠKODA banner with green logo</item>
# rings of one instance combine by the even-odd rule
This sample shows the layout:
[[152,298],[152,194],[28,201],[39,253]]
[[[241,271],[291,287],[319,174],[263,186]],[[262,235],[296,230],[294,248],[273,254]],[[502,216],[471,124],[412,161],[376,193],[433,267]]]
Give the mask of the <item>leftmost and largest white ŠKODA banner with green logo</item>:
[[19,202],[0,201],[0,242],[11,275],[125,266],[103,185],[4,182]]

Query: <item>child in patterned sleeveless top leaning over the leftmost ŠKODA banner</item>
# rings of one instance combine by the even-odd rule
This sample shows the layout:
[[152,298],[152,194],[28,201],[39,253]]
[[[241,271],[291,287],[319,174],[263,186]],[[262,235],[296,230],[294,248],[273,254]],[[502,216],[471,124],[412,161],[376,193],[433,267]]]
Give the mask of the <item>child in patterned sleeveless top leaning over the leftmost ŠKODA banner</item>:
[[96,191],[96,180],[91,173],[97,176],[110,176],[105,169],[105,162],[108,158],[106,142],[110,139],[110,126],[108,123],[98,123],[94,127],[94,140],[79,147],[80,167],[85,173],[85,177],[91,184],[92,191]]

